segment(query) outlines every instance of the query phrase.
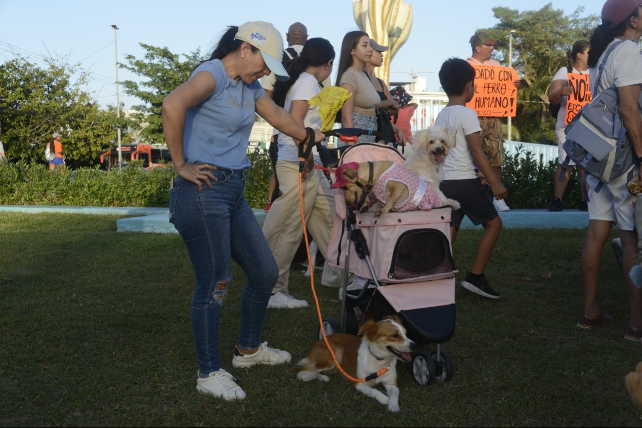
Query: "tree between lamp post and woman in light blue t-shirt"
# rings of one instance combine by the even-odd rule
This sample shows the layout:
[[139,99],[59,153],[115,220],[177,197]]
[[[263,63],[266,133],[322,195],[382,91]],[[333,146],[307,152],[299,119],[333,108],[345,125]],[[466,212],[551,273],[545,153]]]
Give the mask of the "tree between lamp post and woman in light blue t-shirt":
[[[125,80],[122,83],[124,91],[130,96],[143,100],[143,105],[132,107],[139,113],[132,115],[141,124],[146,124],[141,129],[140,137],[143,141],[152,144],[164,144],[162,132],[162,100],[169,92],[187,81],[194,67],[202,58],[200,51],[189,55],[171,53],[167,47],[155,47],[140,44],[146,53],[143,59],[134,55],[125,55],[127,64],[120,66],[132,73],[138,74],[146,80],[137,83]],[[181,60],[184,57],[185,60]]]

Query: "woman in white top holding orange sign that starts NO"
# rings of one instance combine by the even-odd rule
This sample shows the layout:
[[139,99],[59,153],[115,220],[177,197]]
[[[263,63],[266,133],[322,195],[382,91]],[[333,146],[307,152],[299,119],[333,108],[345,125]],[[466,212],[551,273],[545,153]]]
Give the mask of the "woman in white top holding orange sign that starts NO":
[[[551,81],[551,89],[548,91],[548,101],[552,104],[559,104],[560,110],[557,113],[557,122],[555,123],[555,135],[557,135],[557,153],[559,154],[557,158],[557,169],[555,169],[555,180],[553,180],[553,194],[554,199],[551,203],[549,211],[561,211],[562,210],[562,198],[564,198],[564,191],[566,191],[566,186],[568,185],[568,180],[571,177],[573,172],[574,162],[569,162],[569,167],[566,169],[566,175],[564,180],[559,182],[560,174],[562,173],[562,162],[566,159],[566,151],[562,148],[564,141],[566,141],[566,102],[568,101],[568,96],[573,92],[573,89],[568,84],[568,73],[578,73],[578,74],[589,74],[589,47],[591,45],[586,40],[579,40],[575,42],[573,48],[566,53],[568,59],[568,65],[566,67],[560,68],[555,76],[553,76],[553,81]],[[582,175],[584,175],[584,170],[581,168],[577,169],[577,176],[580,180],[580,191],[582,192],[582,203],[580,204],[580,210],[586,211],[587,203],[586,196],[584,195],[584,190],[582,189]]]

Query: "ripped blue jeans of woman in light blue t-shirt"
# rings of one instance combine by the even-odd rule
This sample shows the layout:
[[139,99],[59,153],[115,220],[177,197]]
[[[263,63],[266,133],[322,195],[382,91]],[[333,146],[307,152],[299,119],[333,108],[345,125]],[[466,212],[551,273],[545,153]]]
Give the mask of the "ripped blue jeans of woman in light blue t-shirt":
[[261,227],[245,201],[244,171],[217,169],[213,188],[198,187],[178,177],[169,191],[169,221],[187,246],[196,276],[192,299],[192,332],[202,374],[221,368],[218,329],[221,307],[232,279],[232,259],[247,275],[241,295],[238,343],[261,345],[263,318],[279,277],[277,264]]

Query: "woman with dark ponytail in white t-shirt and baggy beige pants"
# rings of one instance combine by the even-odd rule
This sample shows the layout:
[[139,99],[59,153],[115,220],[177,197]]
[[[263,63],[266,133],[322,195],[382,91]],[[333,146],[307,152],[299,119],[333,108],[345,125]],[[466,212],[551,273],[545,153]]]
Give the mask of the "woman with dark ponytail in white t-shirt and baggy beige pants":
[[[290,80],[277,82],[274,87],[274,102],[288,110],[301,126],[321,128],[322,120],[317,106],[309,105],[309,99],[320,92],[320,83],[332,72],[334,48],[325,39],[309,39],[300,55],[288,64]],[[268,307],[294,308],[308,306],[288,293],[290,264],[303,237],[299,198],[299,148],[288,135],[279,133],[279,158],[276,163],[281,196],[272,202],[263,225],[263,234],[279,267],[279,279],[272,290]],[[334,213],[333,192],[320,169],[317,149],[306,160],[303,171],[303,207],[306,225],[319,250],[325,257],[332,232]],[[339,286],[338,271],[324,268],[322,284]]]

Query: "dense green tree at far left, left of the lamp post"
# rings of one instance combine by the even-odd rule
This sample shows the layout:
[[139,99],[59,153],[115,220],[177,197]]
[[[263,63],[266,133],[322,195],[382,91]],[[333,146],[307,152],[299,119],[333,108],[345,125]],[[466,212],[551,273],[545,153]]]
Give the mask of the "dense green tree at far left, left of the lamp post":
[[44,148],[53,132],[62,144],[71,167],[98,163],[116,137],[112,110],[101,110],[82,90],[87,76],[68,64],[48,61],[46,68],[21,56],[0,65],[0,139],[11,159],[44,160]]

